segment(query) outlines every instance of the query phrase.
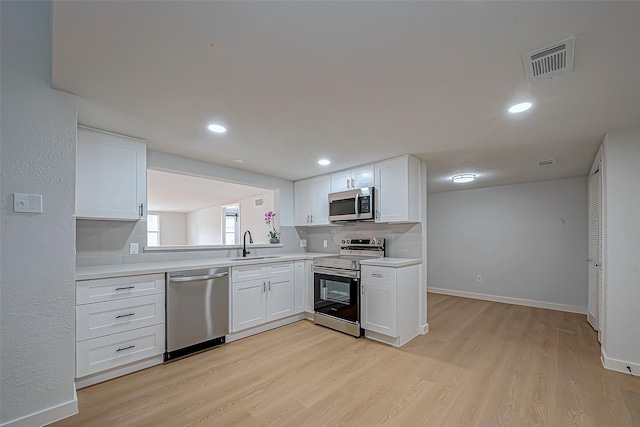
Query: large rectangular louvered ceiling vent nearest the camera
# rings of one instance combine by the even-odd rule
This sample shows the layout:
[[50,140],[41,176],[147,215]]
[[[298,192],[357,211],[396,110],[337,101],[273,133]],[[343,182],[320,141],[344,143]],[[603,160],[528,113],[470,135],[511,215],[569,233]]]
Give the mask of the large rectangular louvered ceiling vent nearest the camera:
[[527,82],[548,79],[565,71],[573,70],[573,48],[576,38],[569,37],[542,49],[522,55]]

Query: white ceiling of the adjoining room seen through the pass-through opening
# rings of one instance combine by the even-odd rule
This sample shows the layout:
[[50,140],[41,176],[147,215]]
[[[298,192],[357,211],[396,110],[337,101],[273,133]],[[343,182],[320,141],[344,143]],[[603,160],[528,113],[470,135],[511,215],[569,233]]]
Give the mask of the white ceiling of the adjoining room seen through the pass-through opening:
[[197,176],[147,171],[147,204],[151,212],[192,212],[225,206],[269,191]]

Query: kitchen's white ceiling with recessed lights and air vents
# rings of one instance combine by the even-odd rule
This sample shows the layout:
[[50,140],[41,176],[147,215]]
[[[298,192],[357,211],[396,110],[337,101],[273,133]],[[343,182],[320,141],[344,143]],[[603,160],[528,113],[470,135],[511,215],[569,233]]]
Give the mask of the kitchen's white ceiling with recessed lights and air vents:
[[[413,154],[429,191],[484,187],[586,175],[640,123],[639,22],[640,2],[54,2],[53,86],[155,150],[292,180]],[[522,54],[572,35],[574,71],[529,87]]]

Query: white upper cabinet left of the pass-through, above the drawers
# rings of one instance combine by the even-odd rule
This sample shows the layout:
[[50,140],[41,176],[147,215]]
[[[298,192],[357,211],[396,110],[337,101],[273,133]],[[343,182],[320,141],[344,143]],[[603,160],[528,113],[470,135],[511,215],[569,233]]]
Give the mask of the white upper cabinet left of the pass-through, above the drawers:
[[131,220],[147,215],[147,146],[143,141],[79,127],[76,217]]

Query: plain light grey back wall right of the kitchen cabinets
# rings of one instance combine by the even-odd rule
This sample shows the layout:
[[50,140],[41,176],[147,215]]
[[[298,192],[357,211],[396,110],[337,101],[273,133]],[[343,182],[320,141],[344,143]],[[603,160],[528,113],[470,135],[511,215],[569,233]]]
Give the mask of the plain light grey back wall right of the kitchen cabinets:
[[427,221],[429,288],[586,312],[586,177],[430,194]]

